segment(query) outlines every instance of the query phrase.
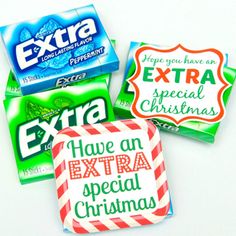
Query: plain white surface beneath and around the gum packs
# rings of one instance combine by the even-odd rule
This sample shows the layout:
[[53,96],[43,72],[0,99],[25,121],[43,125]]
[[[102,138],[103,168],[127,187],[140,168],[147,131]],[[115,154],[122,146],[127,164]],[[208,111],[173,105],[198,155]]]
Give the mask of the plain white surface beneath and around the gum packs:
[[[118,40],[121,67],[112,81],[115,100],[129,42],[216,47],[236,61],[235,0],[0,0],[0,25],[94,2],[110,35]],[[235,63],[236,64],[236,63]],[[234,64],[234,65],[235,65]],[[0,51],[0,235],[63,236],[53,180],[21,186],[2,105],[8,75]],[[174,217],[158,225],[101,235],[236,235],[236,90],[214,145],[161,133]]]

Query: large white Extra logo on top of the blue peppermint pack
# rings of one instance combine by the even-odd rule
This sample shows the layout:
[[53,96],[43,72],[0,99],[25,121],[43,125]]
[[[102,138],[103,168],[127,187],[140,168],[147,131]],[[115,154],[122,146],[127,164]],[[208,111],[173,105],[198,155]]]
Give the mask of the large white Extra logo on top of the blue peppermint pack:
[[92,18],[88,18],[67,28],[57,29],[44,39],[31,38],[16,45],[15,53],[18,65],[21,70],[25,70],[33,65],[73,50],[80,46],[80,41],[96,33],[95,21]]

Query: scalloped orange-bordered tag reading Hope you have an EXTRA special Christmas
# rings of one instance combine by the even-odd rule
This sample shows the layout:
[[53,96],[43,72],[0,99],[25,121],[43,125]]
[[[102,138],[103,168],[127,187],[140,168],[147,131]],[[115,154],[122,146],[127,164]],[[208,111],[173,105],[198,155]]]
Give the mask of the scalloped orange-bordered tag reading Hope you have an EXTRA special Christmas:
[[224,55],[216,49],[140,47],[136,72],[128,80],[135,91],[132,114],[180,125],[189,120],[219,122],[225,114]]

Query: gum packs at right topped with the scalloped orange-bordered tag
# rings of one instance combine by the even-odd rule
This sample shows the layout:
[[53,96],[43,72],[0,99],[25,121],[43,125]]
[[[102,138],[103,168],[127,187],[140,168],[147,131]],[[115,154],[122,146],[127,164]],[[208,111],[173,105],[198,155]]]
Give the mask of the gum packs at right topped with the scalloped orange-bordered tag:
[[236,77],[227,54],[132,42],[114,111],[213,143]]

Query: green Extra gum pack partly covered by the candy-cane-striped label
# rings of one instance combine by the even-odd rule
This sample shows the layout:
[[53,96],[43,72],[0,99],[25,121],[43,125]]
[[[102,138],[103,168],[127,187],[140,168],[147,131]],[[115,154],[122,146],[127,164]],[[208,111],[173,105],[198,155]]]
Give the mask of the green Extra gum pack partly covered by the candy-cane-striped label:
[[51,143],[59,130],[114,120],[107,84],[101,79],[6,99],[4,106],[22,184],[54,176]]

